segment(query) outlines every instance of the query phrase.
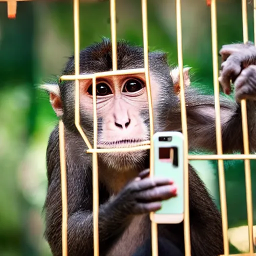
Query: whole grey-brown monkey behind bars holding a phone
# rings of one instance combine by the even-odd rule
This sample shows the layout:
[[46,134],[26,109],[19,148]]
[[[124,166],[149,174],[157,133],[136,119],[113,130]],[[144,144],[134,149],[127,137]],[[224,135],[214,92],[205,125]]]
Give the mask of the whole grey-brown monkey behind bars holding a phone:
[[[250,42],[223,45],[219,51],[219,82],[223,152],[243,151],[240,100],[247,99],[250,151],[256,147],[256,48]],[[167,53],[148,52],[154,132],[181,130],[179,72],[183,72],[189,149],[216,152],[214,96],[191,86],[189,68],[168,64]],[[103,37],[79,53],[80,74],[112,70],[111,40]],[[143,48],[117,41],[117,68],[144,67]],[[74,56],[61,71],[74,74]],[[232,84],[230,83],[232,81]],[[144,74],[96,79],[97,147],[131,147],[150,139]],[[74,81],[43,84],[56,116],[63,121],[67,175],[68,255],[93,255],[92,157],[74,124]],[[80,125],[93,143],[92,81],[79,80]],[[149,150],[98,153],[99,254],[151,255],[149,212],[174,197],[173,180],[149,177]],[[47,194],[44,203],[45,238],[53,255],[61,255],[61,186],[58,126],[46,149]],[[223,253],[221,215],[202,180],[189,165],[189,219],[192,256]],[[183,222],[158,224],[159,255],[184,255]]]

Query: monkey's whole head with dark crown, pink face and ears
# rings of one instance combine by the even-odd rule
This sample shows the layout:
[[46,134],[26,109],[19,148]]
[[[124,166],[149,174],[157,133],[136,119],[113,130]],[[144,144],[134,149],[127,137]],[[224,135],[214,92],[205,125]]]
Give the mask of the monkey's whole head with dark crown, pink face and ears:
[[[112,69],[111,41],[86,47],[80,51],[80,74],[104,72]],[[154,132],[168,128],[169,109],[176,104],[173,86],[178,92],[178,70],[170,73],[167,55],[162,52],[148,53],[151,95],[154,111]],[[117,68],[144,67],[143,48],[124,41],[117,43]],[[186,71],[187,72],[187,71]],[[184,80],[186,81],[184,72]],[[62,74],[74,74],[74,58],[70,57]],[[172,77],[172,78],[171,78]],[[187,76],[188,77],[188,76]],[[189,79],[188,79],[189,80]],[[172,83],[174,81],[175,84]],[[79,81],[80,125],[93,144],[93,98],[90,80]],[[177,86],[176,86],[177,85]],[[66,130],[72,134],[69,139],[77,155],[84,153],[84,141],[74,125],[74,82],[65,81],[58,85],[45,84],[50,102],[57,116],[61,117]],[[148,140],[149,113],[144,74],[116,75],[96,80],[97,147],[131,147]],[[141,169],[147,151],[99,153],[98,158],[115,170]]]

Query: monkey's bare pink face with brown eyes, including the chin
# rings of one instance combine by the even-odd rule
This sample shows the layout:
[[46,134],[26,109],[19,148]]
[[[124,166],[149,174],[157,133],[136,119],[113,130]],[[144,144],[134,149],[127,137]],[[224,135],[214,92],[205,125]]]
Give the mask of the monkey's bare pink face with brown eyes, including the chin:
[[[155,98],[157,87],[152,86]],[[93,116],[91,80],[80,81],[80,109]],[[96,80],[98,148],[141,145],[149,139],[148,101],[144,75],[118,75]],[[82,117],[82,116],[81,116]],[[87,126],[87,125],[86,125]],[[88,126],[87,126],[88,127]],[[86,127],[84,127],[86,130]],[[130,169],[143,163],[145,151],[99,153],[108,167]]]

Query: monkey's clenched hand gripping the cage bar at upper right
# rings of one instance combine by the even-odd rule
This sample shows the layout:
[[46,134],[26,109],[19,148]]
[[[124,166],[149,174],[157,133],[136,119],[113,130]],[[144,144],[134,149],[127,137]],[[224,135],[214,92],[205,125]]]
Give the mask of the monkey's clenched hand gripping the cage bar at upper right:
[[235,99],[256,100],[256,47],[247,42],[223,45],[219,82],[226,94],[230,92],[230,80],[234,83]]

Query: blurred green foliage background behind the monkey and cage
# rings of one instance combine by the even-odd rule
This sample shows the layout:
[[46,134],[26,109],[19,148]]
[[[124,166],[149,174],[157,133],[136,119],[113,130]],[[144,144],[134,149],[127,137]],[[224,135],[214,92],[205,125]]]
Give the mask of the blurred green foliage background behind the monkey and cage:
[[[253,7],[248,4],[249,39]],[[0,255],[50,255],[42,235],[46,193],[45,150],[56,117],[47,96],[36,88],[55,79],[73,53],[72,1],[18,2],[16,19],[0,2]],[[117,37],[142,45],[139,0],[117,0]],[[242,41],[240,0],[217,1],[218,48]],[[194,80],[213,93],[210,8],[205,0],[182,0],[184,64]],[[80,4],[80,47],[110,37],[109,2]],[[150,49],[169,52],[177,63],[174,0],[148,0]],[[197,85],[198,86],[198,85]],[[210,143],[210,142],[209,142]],[[216,161],[191,162],[219,206]],[[206,165],[205,165],[206,164]],[[204,165],[204,166],[203,166]],[[205,167],[206,166],[206,167]],[[251,161],[253,201],[255,162]],[[225,161],[229,227],[244,225],[243,161]],[[256,204],[254,203],[254,207]],[[256,213],[254,210],[254,224]],[[232,247],[231,252],[236,250]]]

